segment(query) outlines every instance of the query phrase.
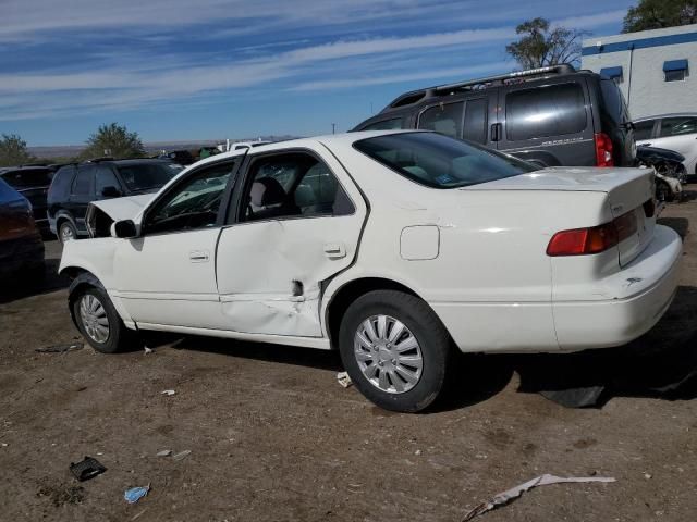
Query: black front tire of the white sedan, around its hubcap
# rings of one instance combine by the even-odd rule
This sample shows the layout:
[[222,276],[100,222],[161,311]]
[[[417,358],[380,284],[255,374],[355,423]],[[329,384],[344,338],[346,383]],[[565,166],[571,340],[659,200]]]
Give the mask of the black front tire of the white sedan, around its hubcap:
[[[83,298],[88,295],[97,299],[106,312],[109,333],[108,337],[103,341],[99,341],[90,335],[85,326],[81,303]],[[83,286],[77,288],[75,294],[71,296],[71,306],[73,307],[73,316],[75,318],[77,330],[80,330],[80,333],[83,335],[85,340],[95,350],[102,353],[115,353],[138,347],[139,341],[137,333],[126,328],[103,288],[98,286]]]

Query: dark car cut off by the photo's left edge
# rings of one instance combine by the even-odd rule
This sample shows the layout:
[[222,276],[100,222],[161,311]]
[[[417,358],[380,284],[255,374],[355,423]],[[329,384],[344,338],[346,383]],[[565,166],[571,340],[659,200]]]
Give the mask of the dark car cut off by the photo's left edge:
[[32,203],[0,179],[0,279],[17,272],[35,279],[44,276],[44,241]]

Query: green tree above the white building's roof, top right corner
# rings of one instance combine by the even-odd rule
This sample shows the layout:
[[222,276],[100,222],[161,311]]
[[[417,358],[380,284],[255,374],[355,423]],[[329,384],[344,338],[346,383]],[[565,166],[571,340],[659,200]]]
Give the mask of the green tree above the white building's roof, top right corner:
[[697,0],[639,0],[629,8],[622,33],[697,23]]

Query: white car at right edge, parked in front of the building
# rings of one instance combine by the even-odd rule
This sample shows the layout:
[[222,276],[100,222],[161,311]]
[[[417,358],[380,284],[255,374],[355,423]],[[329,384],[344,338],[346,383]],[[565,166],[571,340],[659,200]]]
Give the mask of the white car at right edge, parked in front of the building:
[[697,113],[640,117],[634,125],[638,145],[674,150],[685,157],[687,174],[697,174]]

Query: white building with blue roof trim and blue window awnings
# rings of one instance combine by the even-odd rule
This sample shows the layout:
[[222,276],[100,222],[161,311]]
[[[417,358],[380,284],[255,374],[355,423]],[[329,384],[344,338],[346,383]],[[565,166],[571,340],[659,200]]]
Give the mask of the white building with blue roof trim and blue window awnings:
[[632,117],[697,112],[697,24],[584,40],[582,67],[612,77]]

